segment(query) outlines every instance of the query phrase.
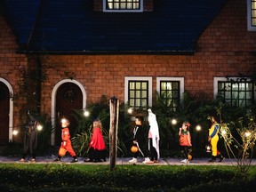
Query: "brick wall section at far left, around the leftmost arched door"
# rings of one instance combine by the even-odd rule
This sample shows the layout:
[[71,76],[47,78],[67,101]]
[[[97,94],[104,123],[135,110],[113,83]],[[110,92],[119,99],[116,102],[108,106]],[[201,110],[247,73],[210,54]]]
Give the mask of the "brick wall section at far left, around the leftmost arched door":
[[[21,122],[20,107],[27,105],[27,100],[20,96],[21,74],[20,70],[27,70],[28,60],[26,56],[16,54],[18,46],[12,29],[4,20],[0,12],[0,77],[4,78],[9,84],[12,85],[13,95],[13,127],[19,127]],[[18,97],[19,94],[19,97]]]

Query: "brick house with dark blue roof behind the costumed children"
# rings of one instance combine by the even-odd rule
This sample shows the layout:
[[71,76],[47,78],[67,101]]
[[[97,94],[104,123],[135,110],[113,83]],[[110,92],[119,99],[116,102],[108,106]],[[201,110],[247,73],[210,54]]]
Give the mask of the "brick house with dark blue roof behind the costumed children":
[[185,91],[198,100],[220,92],[230,102],[245,92],[245,105],[256,100],[254,84],[220,89],[225,76],[255,74],[254,0],[120,2],[0,0],[1,145],[28,110],[54,125],[102,95],[132,107],[151,106],[156,91],[172,92],[171,108]]

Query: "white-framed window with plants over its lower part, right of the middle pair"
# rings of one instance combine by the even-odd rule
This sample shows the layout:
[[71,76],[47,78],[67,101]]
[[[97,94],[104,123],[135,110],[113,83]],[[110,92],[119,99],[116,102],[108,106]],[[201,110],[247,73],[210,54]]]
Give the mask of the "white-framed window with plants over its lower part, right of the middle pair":
[[166,107],[177,111],[180,106],[181,96],[184,92],[183,77],[157,77],[156,91],[164,100]]

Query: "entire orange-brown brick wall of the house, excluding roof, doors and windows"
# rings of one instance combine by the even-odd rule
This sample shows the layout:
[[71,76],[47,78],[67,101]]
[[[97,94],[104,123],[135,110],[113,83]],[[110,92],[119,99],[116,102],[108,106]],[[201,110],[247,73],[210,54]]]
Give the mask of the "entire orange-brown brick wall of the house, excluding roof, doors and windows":
[[[42,113],[51,114],[52,88],[73,77],[84,85],[87,105],[102,95],[124,102],[125,76],[184,76],[185,90],[198,99],[213,96],[214,76],[252,75],[256,71],[256,33],[246,26],[246,1],[228,0],[209,27],[202,31],[196,54],[186,55],[50,55],[42,58],[46,80],[42,85]],[[19,92],[19,66],[28,59],[15,53],[17,44],[8,24],[0,16],[1,77]],[[33,57],[33,56],[31,56]],[[32,58],[31,58],[32,59]],[[18,79],[17,79],[18,78]],[[14,100],[14,121],[25,100]]]

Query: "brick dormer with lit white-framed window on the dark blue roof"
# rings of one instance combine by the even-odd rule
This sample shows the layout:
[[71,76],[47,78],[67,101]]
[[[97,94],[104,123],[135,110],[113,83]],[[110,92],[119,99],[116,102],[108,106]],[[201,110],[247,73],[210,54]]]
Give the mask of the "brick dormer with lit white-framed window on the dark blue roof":
[[93,0],[93,11],[152,12],[153,0]]

